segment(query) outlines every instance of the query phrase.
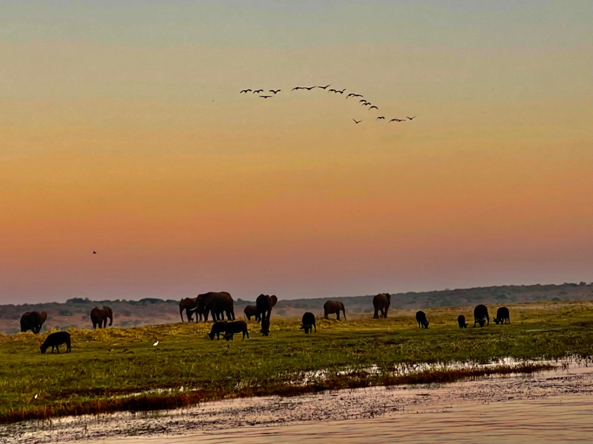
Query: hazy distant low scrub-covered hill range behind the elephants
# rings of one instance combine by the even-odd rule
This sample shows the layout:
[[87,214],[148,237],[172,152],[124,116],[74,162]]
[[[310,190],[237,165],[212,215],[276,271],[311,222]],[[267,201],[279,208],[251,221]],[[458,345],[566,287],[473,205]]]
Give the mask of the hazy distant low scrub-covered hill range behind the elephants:
[[[371,313],[374,295],[333,297],[331,300],[342,301],[348,313]],[[281,297],[281,295],[280,295]],[[279,300],[274,308],[274,316],[301,316],[304,311],[315,314],[323,313],[323,304],[330,298],[302,298]],[[476,287],[446,289],[441,291],[407,292],[391,295],[391,308],[412,309],[431,307],[455,307],[458,305],[503,305],[531,301],[579,301],[593,300],[593,285],[503,285],[498,287]],[[139,301],[103,300],[92,301],[88,298],[72,298],[65,303],[43,304],[8,304],[0,305],[0,332],[6,334],[20,331],[19,320],[26,311],[46,311],[47,321],[42,331],[47,329],[65,330],[69,327],[92,328],[90,311],[97,305],[109,305],[113,308],[113,325],[129,327],[148,324],[166,324],[179,322],[179,301],[144,298]],[[235,316],[243,316],[246,305],[254,301],[238,298],[235,300]],[[185,315],[184,315],[185,316]]]

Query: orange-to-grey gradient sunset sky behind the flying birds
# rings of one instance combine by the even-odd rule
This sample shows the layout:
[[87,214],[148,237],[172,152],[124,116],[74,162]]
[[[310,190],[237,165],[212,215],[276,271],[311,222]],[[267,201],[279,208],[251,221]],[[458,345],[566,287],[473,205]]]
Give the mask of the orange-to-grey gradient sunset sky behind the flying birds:
[[592,22],[590,0],[2,1],[0,303],[591,282]]

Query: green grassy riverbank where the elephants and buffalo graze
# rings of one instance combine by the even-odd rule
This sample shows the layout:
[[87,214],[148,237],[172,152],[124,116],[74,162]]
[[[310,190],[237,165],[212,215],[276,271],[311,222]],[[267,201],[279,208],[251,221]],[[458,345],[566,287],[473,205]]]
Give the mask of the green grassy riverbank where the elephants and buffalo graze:
[[[71,330],[72,353],[59,355],[40,353],[45,335],[0,335],[0,422],[512,371],[500,366],[402,376],[390,372],[398,364],[593,356],[591,303],[508,307],[512,324],[466,330],[458,329],[456,318],[463,313],[469,319],[471,308],[426,310],[428,330],[416,328],[412,311],[391,311],[379,320],[371,314],[318,320],[317,333],[308,335],[298,330],[299,320],[273,317],[269,337],[252,323],[251,339],[235,335],[233,342],[211,341],[206,324]],[[366,372],[371,365],[381,372]],[[318,370],[323,377],[305,379]]]

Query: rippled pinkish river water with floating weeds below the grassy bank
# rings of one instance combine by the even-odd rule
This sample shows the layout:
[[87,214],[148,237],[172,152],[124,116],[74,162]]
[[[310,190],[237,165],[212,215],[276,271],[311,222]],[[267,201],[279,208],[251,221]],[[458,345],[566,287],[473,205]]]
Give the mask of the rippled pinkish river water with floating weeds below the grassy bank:
[[11,443],[591,442],[593,366],[0,427]]

